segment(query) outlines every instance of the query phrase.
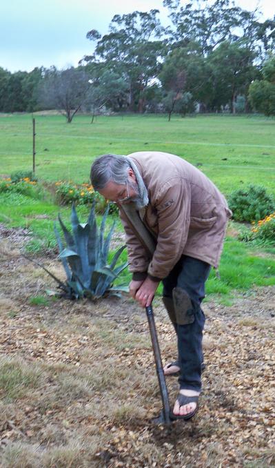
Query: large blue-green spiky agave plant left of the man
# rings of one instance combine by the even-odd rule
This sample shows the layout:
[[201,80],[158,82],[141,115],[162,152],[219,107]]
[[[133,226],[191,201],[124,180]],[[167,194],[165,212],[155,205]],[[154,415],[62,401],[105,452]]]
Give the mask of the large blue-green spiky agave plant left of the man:
[[[94,204],[92,205],[88,221],[83,224],[79,222],[76,208],[72,205],[72,233],[68,231],[59,215],[59,223],[67,244],[65,248],[63,247],[57,226],[54,226],[59,246],[59,257],[65,269],[67,280],[64,283],[54,275],[52,277],[59,282],[59,287],[70,298],[89,297],[96,299],[105,294],[117,295],[120,291],[128,291],[128,287],[125,284],[114,286],[114,280],[128,265],[125,262],[116,266],[125,245],[116,251],[112,262],[108,264],[108,253],[115,225],[114,221],[108,234],[105,236],[108,211],[109,207],[105,210],[101,226],[98,229]],[[50,272],[48,271],[48,273]]]

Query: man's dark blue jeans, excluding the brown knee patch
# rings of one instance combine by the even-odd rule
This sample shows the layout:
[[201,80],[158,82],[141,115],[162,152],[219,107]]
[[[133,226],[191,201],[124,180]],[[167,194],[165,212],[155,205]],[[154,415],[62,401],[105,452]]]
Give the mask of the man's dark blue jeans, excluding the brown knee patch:
[[172,298],[174,287],[184,289],[192,300],[194,322],[174,324],[178,338],[181,389],[201,391],[201,364],[203,362],[203,327],[205,315],[201,302],[205,297],[205,282],[210,274],[210,264],[182,255],[174,269],[163,280],[163,296]]

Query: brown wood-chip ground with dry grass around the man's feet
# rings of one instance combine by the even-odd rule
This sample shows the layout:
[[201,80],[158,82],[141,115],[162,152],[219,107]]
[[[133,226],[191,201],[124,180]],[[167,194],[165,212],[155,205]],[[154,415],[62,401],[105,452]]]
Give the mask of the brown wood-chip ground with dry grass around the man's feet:
[[[161,400],[144,311],[126,296],[47,299],[56,285],[21,255],[26,239],[0,226],[1,467],[275,465],[274,287],[232,306],[205,303],[200,409],[155,426]],[[36,260],[63,277],[54,256]],[[176,341],[161,300],[154,312],[168,362]],[[174,404],[177,380],[167,386]]]

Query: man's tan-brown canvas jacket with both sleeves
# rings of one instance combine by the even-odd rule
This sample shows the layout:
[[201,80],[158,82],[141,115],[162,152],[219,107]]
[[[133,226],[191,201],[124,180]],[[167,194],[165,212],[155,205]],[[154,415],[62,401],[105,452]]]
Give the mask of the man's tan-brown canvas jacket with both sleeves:
[[147,187],[149,204],[140,215],[156,238],[156,250],[150,258],[121,210],[130,271],[147,272],[161,280],[183,254],[217,267],[231,215],[218,188],[181,157],[153,151],[128,157]]

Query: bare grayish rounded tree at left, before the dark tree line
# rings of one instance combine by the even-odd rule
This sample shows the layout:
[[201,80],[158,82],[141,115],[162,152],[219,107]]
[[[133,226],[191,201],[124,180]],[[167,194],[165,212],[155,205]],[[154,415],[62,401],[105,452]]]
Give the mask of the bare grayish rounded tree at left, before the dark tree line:
[[45,71],[40,91],[41,104],[58,109],[65,115],[68,124],[85,103],[90,88],[89,75],[81,68],[70,67]]

